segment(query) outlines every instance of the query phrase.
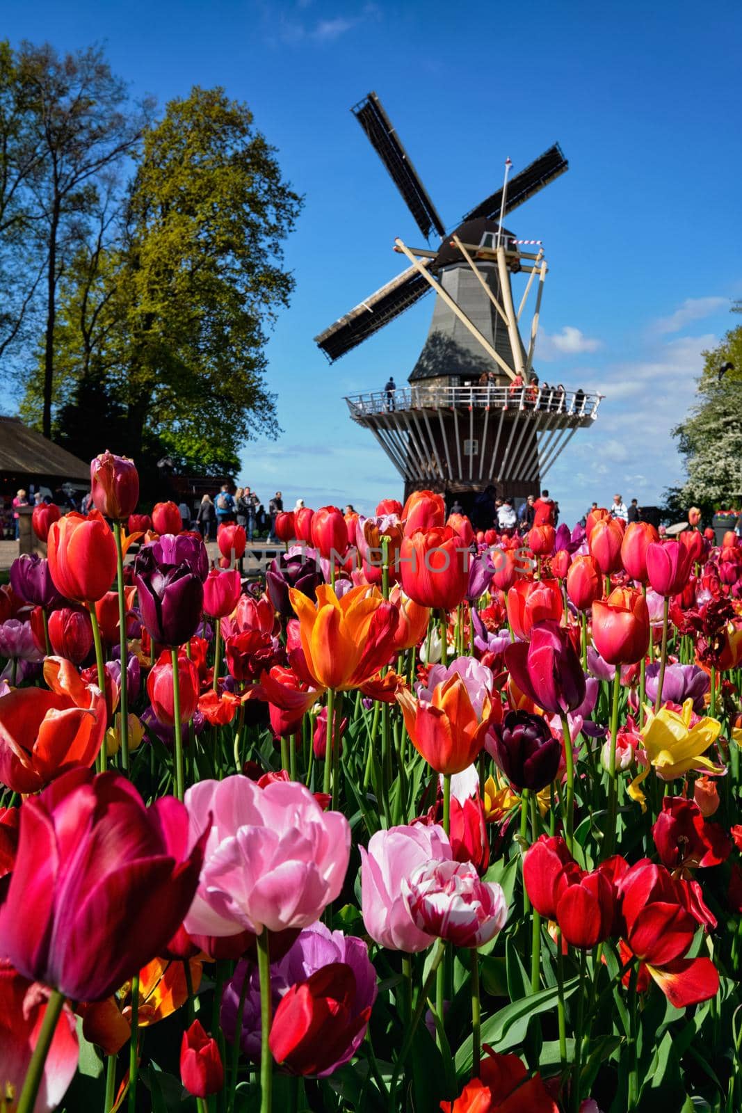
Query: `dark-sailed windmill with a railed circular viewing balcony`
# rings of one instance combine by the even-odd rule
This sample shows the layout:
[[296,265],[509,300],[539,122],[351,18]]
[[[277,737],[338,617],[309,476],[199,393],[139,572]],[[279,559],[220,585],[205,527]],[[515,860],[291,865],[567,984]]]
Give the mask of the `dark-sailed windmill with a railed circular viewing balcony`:
[[[406,494],[426,486],[471,503],[492,486],[523,499],[537,491],[577,429],[592,424],[601,401],[582,390],[538,384],[533,358],[546,259],[540,240],[518,240],[503,224],[564,174],[567,161],[555,144],[508,180],[508,159],[503,186],[447,234],[376,93],[352,111],[425,239],[435,233],[441,244],[433,250],[396,238],[407,269],[315,342],[333,362],[433,290],[433,318],[409,385],[347,397],[350,416],[372,431],[403,476]],[[514,275],[525,279],[517,308]],[[534,290],[524,344],[520,325]]]

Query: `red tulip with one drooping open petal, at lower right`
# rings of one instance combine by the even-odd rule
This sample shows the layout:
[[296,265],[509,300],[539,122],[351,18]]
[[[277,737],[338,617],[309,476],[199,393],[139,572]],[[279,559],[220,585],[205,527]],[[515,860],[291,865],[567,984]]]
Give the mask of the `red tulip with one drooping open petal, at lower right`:
[[685,958],[698,923],[685,908],[682,883],[646,858],[617,881],[622,934],[675,1008],[715,996],[719,974],[710,958]]

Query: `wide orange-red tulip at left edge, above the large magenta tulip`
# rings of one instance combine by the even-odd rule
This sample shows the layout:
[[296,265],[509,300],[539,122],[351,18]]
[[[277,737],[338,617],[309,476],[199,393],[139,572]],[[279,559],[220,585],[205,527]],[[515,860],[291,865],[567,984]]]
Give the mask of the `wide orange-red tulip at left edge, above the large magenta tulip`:
[[106,701],[69,661],[47,658],[44,688],[0,697],[0,781],[37,792],[72,766],[91,765],[106,731]]

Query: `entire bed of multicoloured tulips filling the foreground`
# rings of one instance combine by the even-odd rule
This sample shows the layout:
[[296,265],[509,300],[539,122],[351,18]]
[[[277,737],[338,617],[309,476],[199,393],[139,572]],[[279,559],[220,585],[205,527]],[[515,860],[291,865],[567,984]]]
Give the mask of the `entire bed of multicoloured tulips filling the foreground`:
[[742,1107],[734,538],[416,492],[250,580],[91,481],[0,589],[0,1109]]

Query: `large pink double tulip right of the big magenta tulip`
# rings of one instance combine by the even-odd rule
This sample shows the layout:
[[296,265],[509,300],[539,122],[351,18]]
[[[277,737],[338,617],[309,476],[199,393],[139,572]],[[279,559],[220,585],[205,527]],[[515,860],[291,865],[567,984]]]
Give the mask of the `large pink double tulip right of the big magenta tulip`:
[[339,811],[323,811],[304,785],[259,788],[241,775],[202,780],[186,792],[186,807],[191,845],[212,816],[188,933],[308,927],[339,895],[350,827]]

